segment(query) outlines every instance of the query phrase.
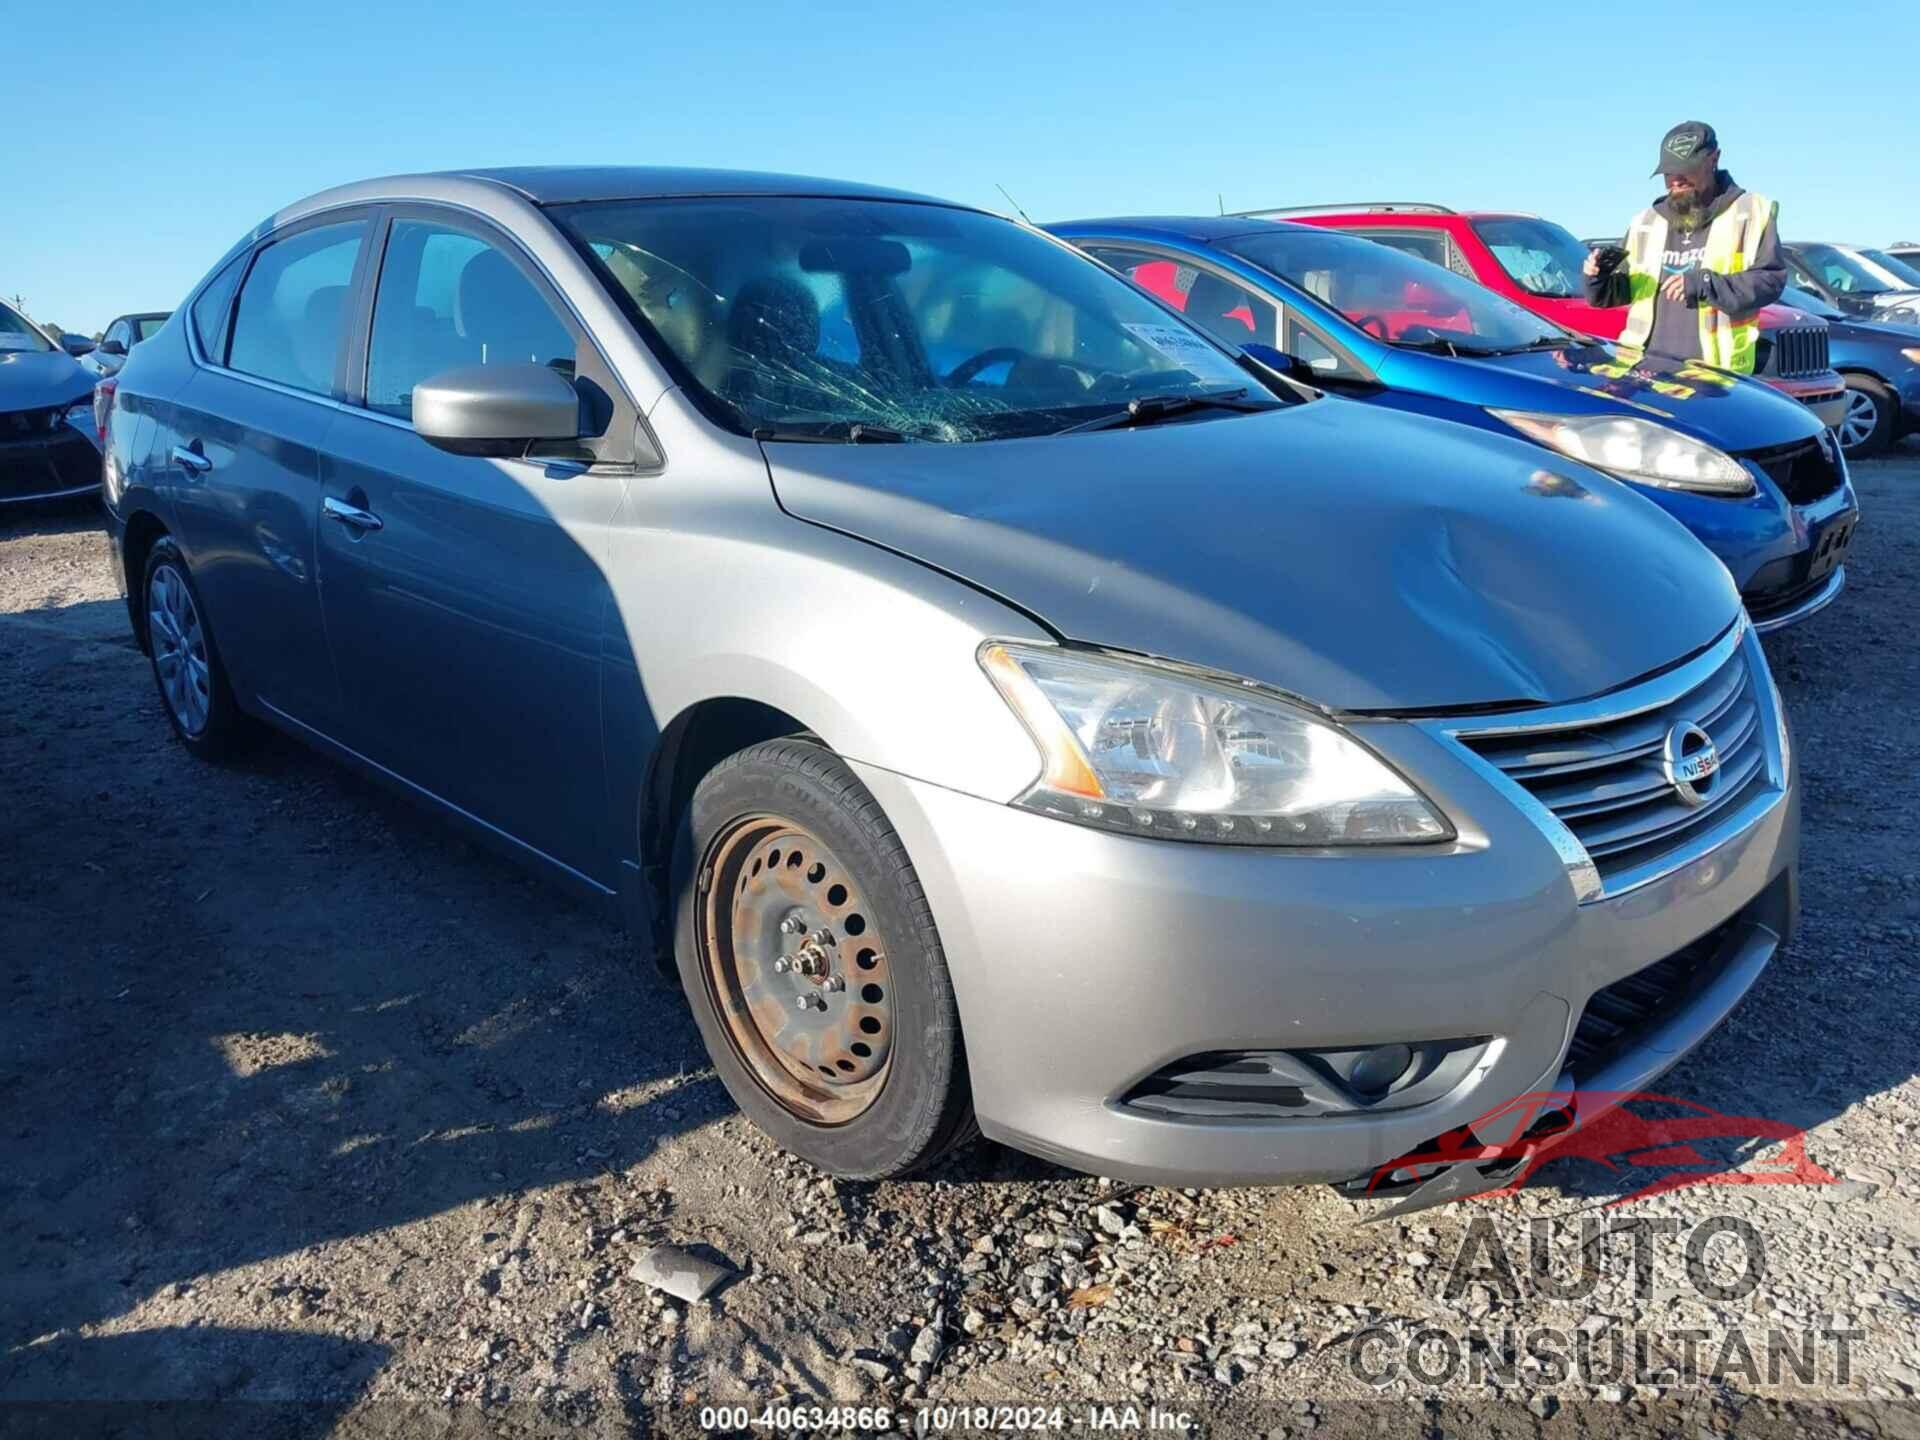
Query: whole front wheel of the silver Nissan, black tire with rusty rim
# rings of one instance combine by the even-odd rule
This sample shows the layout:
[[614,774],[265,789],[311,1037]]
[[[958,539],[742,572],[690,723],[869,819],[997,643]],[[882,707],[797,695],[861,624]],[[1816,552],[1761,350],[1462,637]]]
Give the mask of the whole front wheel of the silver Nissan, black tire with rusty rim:
[[843,1179],[922,1169],[973,1137],[933,914],[879,803],[831,751],[774,739],[693,791],[674,952],[733,1102]]

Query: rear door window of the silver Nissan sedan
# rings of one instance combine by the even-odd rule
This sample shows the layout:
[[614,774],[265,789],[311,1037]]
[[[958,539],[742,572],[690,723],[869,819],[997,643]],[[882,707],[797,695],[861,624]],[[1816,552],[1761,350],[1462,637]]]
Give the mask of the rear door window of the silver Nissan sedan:
[[261,250],[240,286],[227,365],[332,394],[367,221],[317,225]]

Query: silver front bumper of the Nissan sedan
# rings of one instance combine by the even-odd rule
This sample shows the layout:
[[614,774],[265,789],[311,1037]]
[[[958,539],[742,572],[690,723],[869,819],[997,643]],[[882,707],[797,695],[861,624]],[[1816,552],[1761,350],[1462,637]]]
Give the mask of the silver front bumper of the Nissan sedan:
[[[1753,645],[1757,655],[1757,641]],[[1770,682],[1761,685],[1768,695]],[[1108,835],[854,766],[914,856],[954,979],[981,1131],[1100,1175],[1258,1185],[1365,1175],[1551,1089],[1588,998],[1791,891],[1799,810],[1780,785],[1668,874],[1580,902],[1563,849],[1436,728],[1367,741],[1459,839],[1288,854]],[[1759,964],[1764,964],[1761,956]],[[1668,1016],[1622,1066],[1657,1073],[1759,973]],[[1486,1041],[1438,1098],[1365,1114],[1169,1117],[1123,1098],[1194,1056]]]

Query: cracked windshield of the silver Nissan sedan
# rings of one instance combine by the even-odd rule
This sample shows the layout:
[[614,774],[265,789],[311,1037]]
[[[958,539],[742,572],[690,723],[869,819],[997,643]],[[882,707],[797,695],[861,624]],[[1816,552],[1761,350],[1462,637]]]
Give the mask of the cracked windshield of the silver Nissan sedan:
[[1277,403],[1125,280],[993,215],[741,196],[559,219],[743,434],[970,442]]

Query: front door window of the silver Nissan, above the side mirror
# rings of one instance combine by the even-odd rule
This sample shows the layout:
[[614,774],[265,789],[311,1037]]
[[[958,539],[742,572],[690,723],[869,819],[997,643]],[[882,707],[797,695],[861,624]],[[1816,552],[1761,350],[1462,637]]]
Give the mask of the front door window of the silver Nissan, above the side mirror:
[[499,248],[438,221],[394,221],[367,348],[367,407],[413,417],[413,388],[459,365],[574,376],[574,336]]

